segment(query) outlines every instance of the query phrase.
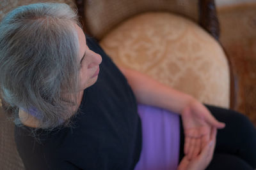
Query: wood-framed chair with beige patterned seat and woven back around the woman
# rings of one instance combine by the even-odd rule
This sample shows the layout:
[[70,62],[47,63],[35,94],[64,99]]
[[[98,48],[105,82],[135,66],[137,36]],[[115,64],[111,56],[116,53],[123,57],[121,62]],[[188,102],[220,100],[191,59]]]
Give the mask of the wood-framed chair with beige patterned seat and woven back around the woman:
[[[39,0],[4,1],[4,13]],[[42,2],[42,1],[40,1]],[[218,41],[212,0],[58,0],[78,8],[86,34],[118,65],[130,67],[203,103],[232,106],[232,71]],[[4,108],[4,107],[3,107]],[[0,107],[1,169],[24,169],[14,124]]]

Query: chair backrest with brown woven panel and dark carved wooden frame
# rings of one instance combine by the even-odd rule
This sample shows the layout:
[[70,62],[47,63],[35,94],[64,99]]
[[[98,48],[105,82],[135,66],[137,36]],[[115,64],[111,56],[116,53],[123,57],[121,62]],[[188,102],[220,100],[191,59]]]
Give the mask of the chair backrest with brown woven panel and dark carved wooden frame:
[[169,11],[202,25],[218,39],[214,0],[76,0],[84,30],[98,40],[127,18],[147,11]]

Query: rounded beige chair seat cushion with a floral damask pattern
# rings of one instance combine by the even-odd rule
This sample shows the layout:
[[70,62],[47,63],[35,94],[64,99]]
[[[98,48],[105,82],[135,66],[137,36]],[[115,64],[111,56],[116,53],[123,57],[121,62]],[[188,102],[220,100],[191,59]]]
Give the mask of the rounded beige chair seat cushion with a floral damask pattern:
[[100,45],[118,65],[146,73],[204,103],[229,107],[225,53],[212,36],[184,17],[163,12],[138,15],[109,32]]

